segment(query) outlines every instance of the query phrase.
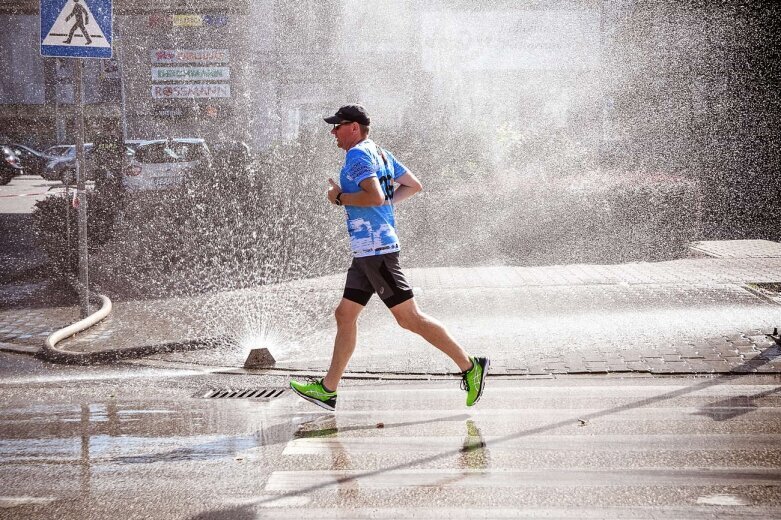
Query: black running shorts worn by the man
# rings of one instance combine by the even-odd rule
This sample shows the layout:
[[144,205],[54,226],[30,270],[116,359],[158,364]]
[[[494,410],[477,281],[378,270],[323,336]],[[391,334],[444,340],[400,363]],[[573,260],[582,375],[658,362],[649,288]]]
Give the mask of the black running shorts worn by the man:
[[401,272],[398,252],[353,258],[344,297],[366,305],[375,292],[389,309],[412,298],[412,287]]

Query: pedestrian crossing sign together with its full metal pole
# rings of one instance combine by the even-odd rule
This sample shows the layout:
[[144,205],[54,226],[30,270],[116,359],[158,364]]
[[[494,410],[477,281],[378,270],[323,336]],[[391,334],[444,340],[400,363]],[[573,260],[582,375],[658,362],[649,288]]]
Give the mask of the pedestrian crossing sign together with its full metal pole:
[[77,58],[74,75],[76,103],[76,199],[79,228],[79,304],[89,315],[89,253],[87,249],[87,191],[84,163],[84,59],[111,58],[112,0],[41,0],[41,55]]

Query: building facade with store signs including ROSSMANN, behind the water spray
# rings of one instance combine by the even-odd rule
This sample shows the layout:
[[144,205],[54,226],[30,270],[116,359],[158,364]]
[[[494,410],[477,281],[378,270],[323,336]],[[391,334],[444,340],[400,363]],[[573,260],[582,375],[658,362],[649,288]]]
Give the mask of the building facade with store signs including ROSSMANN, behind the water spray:
[[[127,138],[264,148],[345,101],[396,129],[421,112],[445,129],[597,124],[601,2],[492,6],[114,0],[114,58],[84,65],[88,139],[90,129],[120,121]],[[0,54],[15,71],[0,78],[0,133],[69,142],[74,60],[40,57],[37,9],[37,0],[0,8]]]

